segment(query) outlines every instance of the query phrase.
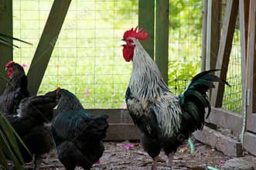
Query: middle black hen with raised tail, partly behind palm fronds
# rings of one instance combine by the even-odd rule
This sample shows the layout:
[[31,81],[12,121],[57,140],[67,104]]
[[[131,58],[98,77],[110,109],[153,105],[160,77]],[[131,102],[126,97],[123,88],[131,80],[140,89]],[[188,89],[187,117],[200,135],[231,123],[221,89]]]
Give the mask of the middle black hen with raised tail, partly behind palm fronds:
[[[21,101],[14,115],[5,115],[30,153],[35,156],[35,169],[39,165],[40,156],[53,148],[53,136],[46,123],[52,120],[56,104],[56,95],[52,93],[27,97]],[[21,144],[19,148],[24,162],[31,162],[32,155]]]

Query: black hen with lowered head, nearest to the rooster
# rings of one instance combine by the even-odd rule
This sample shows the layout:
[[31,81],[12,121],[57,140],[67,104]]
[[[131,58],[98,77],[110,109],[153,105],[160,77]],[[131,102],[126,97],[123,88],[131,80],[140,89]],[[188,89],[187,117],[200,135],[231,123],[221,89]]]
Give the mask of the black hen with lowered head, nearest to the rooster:
[[77,97],[68,90],[58,88],[59,105],[52,124],[58,158],[67,170],[76,166],[89,170],[104,152],[102,139],[108,128],[106,114],[93,116]]

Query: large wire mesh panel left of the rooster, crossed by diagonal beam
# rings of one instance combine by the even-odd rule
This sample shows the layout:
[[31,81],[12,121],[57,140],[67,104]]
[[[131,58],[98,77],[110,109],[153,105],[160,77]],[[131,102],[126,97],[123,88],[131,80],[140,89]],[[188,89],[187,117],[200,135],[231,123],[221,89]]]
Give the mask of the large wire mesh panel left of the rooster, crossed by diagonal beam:
[[[14,0],[14,36],[33,43],[20,44],[15,61],[29,66],[52,3]],[[87,108],[122,107],[131,63],[122,59],[120,39],[137,24],[137,1],[73,0],[39,93],[63,87]]]

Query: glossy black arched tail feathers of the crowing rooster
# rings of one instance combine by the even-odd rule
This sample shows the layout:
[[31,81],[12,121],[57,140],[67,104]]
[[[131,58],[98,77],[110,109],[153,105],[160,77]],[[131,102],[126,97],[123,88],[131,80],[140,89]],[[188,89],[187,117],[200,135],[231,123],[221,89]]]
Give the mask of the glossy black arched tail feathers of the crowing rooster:
[[220,70],[207,70],[198,73],[179,96],[179,104],[183,109],[183,121],[185,121],[184,124],[187,124],[188,131],[192,132],[203,128],[205,108],[208,108],[207,117],[209,117],[211,107],[207,91],[215,87],[213,83],[224,83],[230,87],[227,81],[212,74],[216,71]]

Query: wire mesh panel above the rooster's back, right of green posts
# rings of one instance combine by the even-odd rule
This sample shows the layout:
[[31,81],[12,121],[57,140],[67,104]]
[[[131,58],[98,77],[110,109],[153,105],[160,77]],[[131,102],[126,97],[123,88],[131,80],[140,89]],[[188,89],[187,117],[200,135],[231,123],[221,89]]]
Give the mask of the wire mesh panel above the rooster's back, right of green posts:
[[170,0],[169,87],[182,93],[200,72],[203,1]]

